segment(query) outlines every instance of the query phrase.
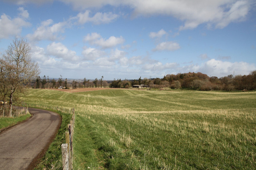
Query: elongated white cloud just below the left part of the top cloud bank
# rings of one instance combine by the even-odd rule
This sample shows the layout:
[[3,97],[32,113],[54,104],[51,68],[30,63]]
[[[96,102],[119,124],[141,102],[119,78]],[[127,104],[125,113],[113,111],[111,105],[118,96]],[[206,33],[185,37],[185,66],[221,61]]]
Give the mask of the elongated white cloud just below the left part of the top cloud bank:
[[93,17],[89,16],[90,11],[86,10],[84,13],[79,13],[77,15],[78,22],[80,24],[85,24],[86,22],[92,22],[95,25],[107,24],[112,22],[114,19],[118,18],[118,15],[112,14],[112,12],[97,12]]

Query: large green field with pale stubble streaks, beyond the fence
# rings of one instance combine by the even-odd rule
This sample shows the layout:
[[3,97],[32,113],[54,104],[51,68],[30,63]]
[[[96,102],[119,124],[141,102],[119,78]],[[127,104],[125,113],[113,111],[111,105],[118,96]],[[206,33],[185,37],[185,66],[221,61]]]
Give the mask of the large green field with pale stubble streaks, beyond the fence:
[[255,169],[256,92],[31,89],[75,108],[74,169]]

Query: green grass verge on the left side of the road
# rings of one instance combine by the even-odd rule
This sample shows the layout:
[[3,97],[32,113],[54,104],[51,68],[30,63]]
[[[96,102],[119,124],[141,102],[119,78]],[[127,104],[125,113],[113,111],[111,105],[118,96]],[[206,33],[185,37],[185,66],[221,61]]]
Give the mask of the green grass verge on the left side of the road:
[[28,113],[26,115],[20,115],[18,117],[0,117],[0,130],[16,125],[19,122],[23,122],[28,119],[31,115]]

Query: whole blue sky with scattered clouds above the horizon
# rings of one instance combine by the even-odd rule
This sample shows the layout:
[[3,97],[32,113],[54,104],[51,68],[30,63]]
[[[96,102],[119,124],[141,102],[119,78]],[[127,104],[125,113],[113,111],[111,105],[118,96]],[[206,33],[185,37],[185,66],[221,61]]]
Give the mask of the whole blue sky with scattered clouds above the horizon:
[[256,70],[255,0],[1,0],[0,53],[26,38],[40,77]]

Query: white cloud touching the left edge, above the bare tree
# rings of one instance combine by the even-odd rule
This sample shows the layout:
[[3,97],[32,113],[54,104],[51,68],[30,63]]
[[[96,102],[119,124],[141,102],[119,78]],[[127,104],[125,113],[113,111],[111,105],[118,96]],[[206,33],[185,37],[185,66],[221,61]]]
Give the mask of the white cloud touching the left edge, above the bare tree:
[[26,20],[29,17],[28,11],[20,7],[19,17],[12,19],[10,16],[3,14],[0,18],[0,39],[8,38],[9,36],[19,35],[22,27],[28,27],[31,24]]

